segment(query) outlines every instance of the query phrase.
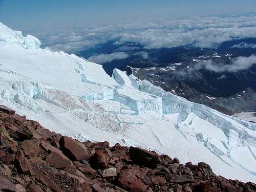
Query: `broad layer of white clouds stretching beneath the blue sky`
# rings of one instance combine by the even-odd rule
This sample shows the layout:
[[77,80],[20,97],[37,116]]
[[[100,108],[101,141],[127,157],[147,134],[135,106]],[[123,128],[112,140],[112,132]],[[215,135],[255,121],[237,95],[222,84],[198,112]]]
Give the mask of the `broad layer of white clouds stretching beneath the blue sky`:
[[[33,35],[42,46],[54,51],[77,52],[102,44],[108,40],[115,45],[127,42],[144,49],[173,48],[194,45],[201,48],[216,47],[224,41],[256,37],[256,15],[230,15],[226,17],[179,17],[103,27],[83,26],[62,28]],[[245,45],[241,45],[245,46]],[[122,47],[118,51],[126,51]]]

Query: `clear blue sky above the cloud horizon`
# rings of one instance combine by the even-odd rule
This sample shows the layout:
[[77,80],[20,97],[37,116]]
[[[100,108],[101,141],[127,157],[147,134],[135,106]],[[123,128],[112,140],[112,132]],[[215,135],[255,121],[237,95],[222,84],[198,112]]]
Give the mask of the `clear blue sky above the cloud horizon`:
[[0,0],[0,22],[23,31],[253,11],[255,0]]

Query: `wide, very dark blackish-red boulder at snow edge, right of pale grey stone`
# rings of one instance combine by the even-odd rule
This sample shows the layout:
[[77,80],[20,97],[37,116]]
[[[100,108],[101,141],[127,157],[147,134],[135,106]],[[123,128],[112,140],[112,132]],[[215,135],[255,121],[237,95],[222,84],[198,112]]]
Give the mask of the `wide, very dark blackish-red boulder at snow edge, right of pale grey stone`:
[[155,152],[143,150],[138,147],[130,147],[129,155],[134,163],[138,163],[143,166],[156,167],[161,163],[160,156]]

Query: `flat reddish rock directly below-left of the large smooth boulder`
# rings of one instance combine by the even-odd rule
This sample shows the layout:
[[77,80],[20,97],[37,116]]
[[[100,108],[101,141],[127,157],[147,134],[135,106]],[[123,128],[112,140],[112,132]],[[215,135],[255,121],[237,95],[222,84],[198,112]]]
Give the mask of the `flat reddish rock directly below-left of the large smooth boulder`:
[[49,156],[46,158],[46,163],[54,168],[66,168],[71,164],[71,161],[68,158],[63,157],[55,152],[51,152]]

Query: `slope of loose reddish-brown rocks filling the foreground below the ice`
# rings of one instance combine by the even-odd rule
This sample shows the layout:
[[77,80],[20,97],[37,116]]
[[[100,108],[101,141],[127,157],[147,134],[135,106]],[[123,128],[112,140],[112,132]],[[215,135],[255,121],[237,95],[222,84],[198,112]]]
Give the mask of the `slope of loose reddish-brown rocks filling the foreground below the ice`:
[[79,142],[0,105],[0,191],[256,191],[209,165],[109,142]]

